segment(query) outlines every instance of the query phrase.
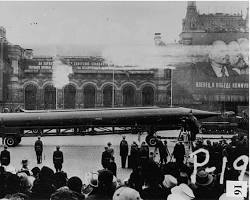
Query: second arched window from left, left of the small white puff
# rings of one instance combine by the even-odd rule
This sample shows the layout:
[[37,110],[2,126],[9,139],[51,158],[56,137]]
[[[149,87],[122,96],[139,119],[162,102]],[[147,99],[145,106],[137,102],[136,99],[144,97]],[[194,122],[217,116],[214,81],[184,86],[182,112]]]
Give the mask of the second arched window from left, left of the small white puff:
[[56,109],[56,88],[52,85],[44,88],[44,108]]

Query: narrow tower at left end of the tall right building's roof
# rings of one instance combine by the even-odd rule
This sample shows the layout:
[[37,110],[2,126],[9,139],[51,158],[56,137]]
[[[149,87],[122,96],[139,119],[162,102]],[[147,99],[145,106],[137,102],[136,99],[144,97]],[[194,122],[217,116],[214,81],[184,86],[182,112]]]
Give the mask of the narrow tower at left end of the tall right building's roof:
[[183,20],[182,30],[183,31],[190,31],[196,30],[198,27],[198,12],[196,9],[196,2],[195,1],[188,1],[187,2],[187,12],[186,17]]

